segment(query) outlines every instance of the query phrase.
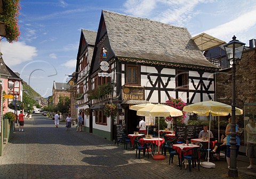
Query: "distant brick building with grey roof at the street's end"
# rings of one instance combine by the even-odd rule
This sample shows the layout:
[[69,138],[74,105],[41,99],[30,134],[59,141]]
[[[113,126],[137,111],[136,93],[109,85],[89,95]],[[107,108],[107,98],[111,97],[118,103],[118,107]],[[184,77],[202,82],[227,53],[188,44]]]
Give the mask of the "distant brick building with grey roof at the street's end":
[[52,105],[56,106],[59,103],[60,96],[68,96],[70,98],[70,92],[67,91],[67,83],[59,83],[53,81]]

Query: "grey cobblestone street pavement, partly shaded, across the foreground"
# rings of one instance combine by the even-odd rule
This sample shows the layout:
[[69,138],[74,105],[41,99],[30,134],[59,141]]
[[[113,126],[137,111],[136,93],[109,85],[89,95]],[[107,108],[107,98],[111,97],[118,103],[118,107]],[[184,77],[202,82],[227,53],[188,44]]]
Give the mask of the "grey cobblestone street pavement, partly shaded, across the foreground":
[[[255,178],[247,169],[248,159],[238,156],[239,178]],[[204,160],[203,160],[204,161]],[[50,118],[34,115],[25,121],[25,132],[15,131],[0,157],[0,178],[228,178],[225,160],[216,168],[178,167],[174,156],[156,161],[151,156],[135,158],[135,150],[86,132],[66,131],[65,123],[55,128]],[[256,166],[254,166],[255,168]]]

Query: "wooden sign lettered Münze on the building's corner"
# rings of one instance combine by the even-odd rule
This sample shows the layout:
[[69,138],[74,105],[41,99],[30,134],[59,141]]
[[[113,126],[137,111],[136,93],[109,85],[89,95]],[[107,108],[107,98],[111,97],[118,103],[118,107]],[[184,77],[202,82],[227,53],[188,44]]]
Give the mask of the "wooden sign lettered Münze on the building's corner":
[[123,86],[123,100],[145,100],[145,88],[135,86]]

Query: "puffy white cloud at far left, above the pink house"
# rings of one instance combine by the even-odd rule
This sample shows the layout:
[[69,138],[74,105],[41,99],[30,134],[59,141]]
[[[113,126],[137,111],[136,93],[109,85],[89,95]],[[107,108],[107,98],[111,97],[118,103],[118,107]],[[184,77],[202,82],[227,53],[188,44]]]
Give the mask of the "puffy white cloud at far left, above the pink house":
[[4,62],[9,67],[31,61],[33,57],[37,56],[36,47],[26,45],[25,42],[18,41],[10,44],[3,41],[1,46]]

